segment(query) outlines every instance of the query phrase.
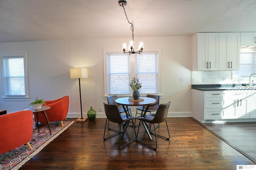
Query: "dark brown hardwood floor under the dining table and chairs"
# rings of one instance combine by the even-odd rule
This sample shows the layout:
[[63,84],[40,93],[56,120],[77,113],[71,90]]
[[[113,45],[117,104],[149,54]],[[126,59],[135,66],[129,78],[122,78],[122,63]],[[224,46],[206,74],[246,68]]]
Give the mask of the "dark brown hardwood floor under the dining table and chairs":
[[[73,123],[20,169],[236,170],[237,165],[255,164],[188,117],[167,118],[171,139],[158,138],[156,151],[138,142],[118,149],[118,136],[104,141],[105,121]],[[157,130],[167,135],[165,127],[162,123]],[[128,127],[124,140],[132,137],[132,127]],[[154,142],[144,133],[140,137]]]

